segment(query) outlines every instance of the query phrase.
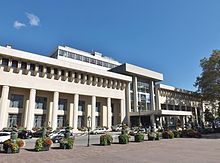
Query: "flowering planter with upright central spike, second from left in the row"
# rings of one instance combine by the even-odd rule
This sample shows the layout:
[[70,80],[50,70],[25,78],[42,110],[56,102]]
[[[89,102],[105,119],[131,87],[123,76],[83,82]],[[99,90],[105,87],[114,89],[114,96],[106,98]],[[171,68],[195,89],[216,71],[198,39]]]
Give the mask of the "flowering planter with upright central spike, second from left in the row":
[[53,144],[52,140],[46,136],[46,129],[43,128],[42,137],[37,139],[35,142],[35,150],[39,151],[48,151],[50,149],[51,144]]

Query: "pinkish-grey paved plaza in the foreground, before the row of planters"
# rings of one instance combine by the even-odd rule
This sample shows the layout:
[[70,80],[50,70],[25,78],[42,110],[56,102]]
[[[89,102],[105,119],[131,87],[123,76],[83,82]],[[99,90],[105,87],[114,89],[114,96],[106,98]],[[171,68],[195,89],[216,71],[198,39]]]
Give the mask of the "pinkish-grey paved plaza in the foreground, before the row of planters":
[[47,152],[21,149],[18,154],[0,153],[0,163],[219,163],[219,152],[219,138],[181,138],[127,145],[75,146],[73,150],[53,148]]

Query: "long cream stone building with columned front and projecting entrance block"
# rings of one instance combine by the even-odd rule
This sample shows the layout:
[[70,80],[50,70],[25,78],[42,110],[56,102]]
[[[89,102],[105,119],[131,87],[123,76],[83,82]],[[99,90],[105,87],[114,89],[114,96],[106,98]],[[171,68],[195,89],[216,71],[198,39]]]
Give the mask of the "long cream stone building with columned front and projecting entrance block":
[[160,85],[162,80],[162,73],[97,52],[58,46],[48,57],[0,46],[0,130],[14,121],[27,129],[69,124],[76,131],[122,122],[134,126],[139,117],[153,127],[168,116],[195,114],[198,121],[198,101],[181,101],[184,93]]

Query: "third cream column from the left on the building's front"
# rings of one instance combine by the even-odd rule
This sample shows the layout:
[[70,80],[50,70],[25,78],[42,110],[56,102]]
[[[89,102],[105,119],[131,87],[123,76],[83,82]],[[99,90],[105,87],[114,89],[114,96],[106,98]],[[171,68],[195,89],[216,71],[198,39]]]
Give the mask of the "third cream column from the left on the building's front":
[[57,112],[58,112],[59,92],[53,94],[53,112],[52,112],[52,129],[57,128]]

